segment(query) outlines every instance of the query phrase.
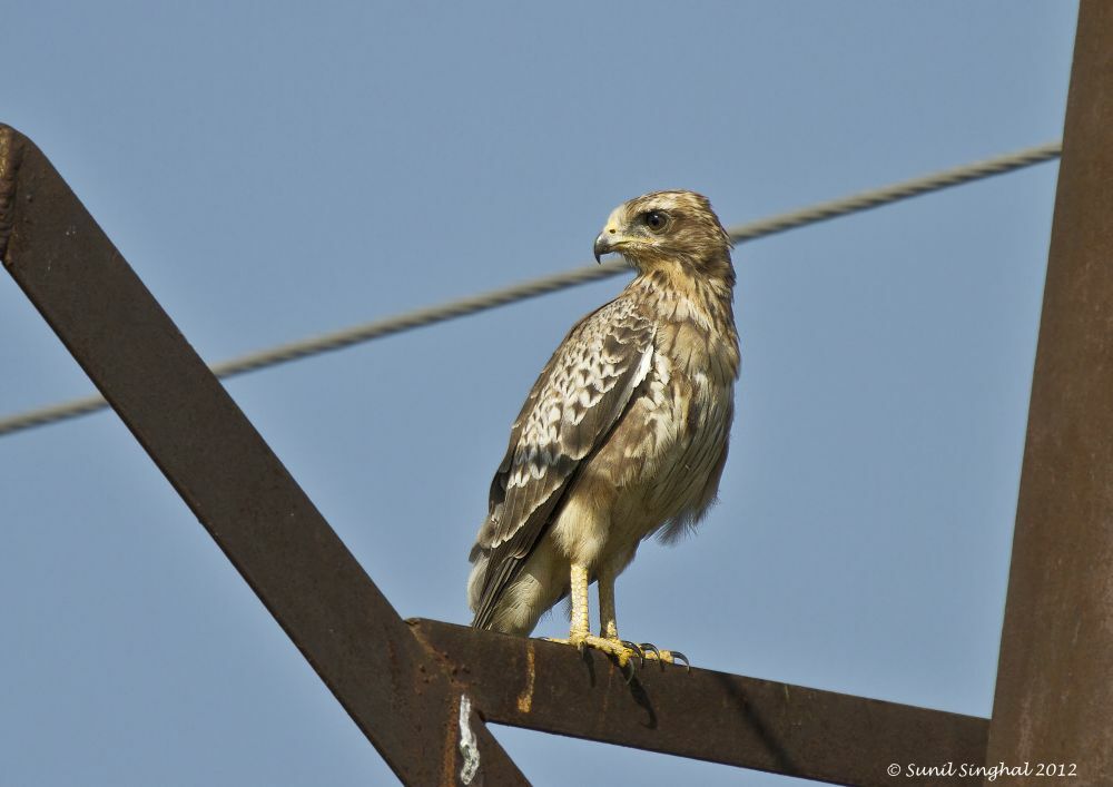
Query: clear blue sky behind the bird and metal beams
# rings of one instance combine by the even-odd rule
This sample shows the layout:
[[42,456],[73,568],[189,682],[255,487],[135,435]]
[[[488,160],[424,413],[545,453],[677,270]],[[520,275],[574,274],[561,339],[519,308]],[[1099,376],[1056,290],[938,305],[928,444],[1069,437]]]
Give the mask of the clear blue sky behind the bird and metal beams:
[[[700,190],[732,224],[1056,139],[1075,12],[17,0],[0,120],[220,361],[584,264],[650,189]],[[626,636],[988,716],[1055,176],[736,250],[721,503],[641,550]],[[403,616],[466,622],[510,422],[621,286],[229,390]],[[0,414],[91,390],[7,276],[0,370]],[[0,599],[2,785],[394,779],[110,413],[0,439]],[[790,781],[494,731],[536,785]]]

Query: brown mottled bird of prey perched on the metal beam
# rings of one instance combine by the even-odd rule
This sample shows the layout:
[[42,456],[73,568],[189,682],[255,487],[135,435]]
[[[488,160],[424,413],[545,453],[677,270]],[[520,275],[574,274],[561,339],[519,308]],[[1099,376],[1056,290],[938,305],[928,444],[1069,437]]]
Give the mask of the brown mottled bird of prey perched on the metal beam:
[[529,634],[570,596],[571,629],[556,641],[622,667],[632,656],[682,658],[619,639],[614,580],[643,539],[676,540],[715,501],[739,365],[730,247],[692,191],[654,191],[611,213],[595,259],[617,252],[637,276],[572,327],[511,427],[471,551],[472,626]]

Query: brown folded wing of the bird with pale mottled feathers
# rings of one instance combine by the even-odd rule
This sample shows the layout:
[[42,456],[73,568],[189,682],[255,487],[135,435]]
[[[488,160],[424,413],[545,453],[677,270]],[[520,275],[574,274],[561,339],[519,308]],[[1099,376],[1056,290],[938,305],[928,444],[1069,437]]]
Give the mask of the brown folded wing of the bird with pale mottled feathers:
[[653,352],[653,323],[618,298],[577,323],[549,358],[510,432],[471,560],[487,555],[472,626],[486,628],[503,590],[549,527],[581,463],[610,434]]

